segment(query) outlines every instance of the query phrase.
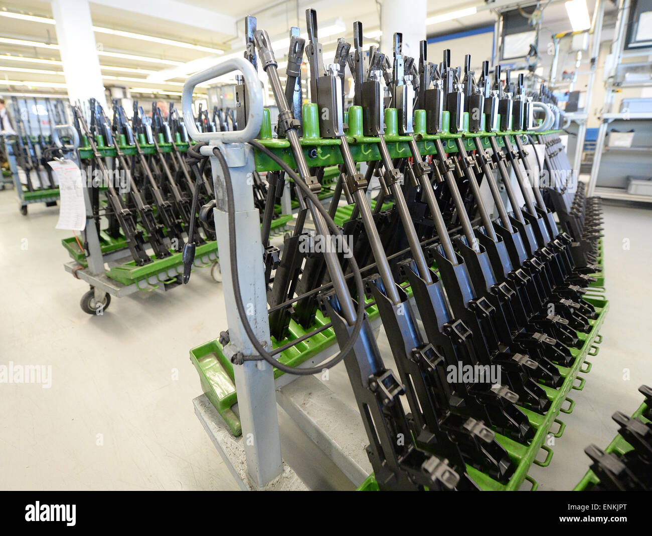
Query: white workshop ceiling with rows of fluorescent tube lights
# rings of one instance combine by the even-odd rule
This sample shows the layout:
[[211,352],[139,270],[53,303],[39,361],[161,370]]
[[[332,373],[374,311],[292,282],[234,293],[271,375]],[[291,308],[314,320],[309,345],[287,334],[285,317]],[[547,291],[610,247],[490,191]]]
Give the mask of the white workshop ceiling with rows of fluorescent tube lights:
[[[505,0],[496,0],[492,5],[505,3]],[[427,6],[428,16],[469,6],[478,8],[474,15],[429,25],[426,28],[428,36],[491,25],[495,20],[494,13],[481,0],[462,0],[454,7],[441,0],[427,0]],[[594,6],[595,0],[587,0],[589,13],[593,12]],[[104,85],[151,89],[168,92],[170,96],[181,92],[188,74],[215,64],[221,57],[241,53],[244,48],[244,17],[247,14],[257,16],[259,27],[266,29],[273,41],[286,37],[291,25],[299,23],[304,29],[304,11],[308,7],[317,10],[320,25],[332,24],[333,21],[343,23],[344,33],[320,37],[326,58],[329,53],[332,54],[338,37],[352,38],[354,21],[361,21],[365,32],[379,28],[379,5],[375,0],[158,0],[156,3],[144,0],[95,0],[90,7],[93,25],[98,29],[127,31],[186,44],[184,47],[149,42],[134,36],[111,35],[101,30],[95,33]],[[613,9],[610,3],[608,9]],[[65,93],[53,21],[8,18],[1,16],[2,12],[48,19],[53,17],[49,1],[9,0],[0,3],[0,79],[5,81],[0,85],[0,93]],[[553,0],[545,8],[543,26],[552,32],[571,29],[563,1]],[[24,43],[7,43],[1,42],[2,38],[40,44],[32,46],[28,43],[26,46]],[[205,49],[187,48],[188,44]],[[220,54],[220,51],[224,53]],[[116,53],[138,57],[116,57]],[[11,59],[8,59],[8,55]],[[276,55],[280,58],[284,51],[276,51]],[[6,81],[25,82],[30,86],[7,85]],[[205,87],[198,91],[205,91]]]

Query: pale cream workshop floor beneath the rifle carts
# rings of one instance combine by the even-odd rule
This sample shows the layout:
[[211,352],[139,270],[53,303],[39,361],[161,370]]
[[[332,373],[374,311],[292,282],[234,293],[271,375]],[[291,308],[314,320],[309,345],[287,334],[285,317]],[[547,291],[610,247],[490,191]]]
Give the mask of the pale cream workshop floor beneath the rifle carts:
[[[542,489],[572,488],[588,466],[584,447],[606,446],[616,430],[611,414],[632,413],[642,401],[638,386],[652,384],[652,212],[606,205],[604,213],[611,311],[552,464],[531,472]],[[201,388],[188,349],[224,329],[221,285],[195,270],[184,288],[116,299],[89,317],[78,303],[87,285],[63,270],[60,241],[70,233],[54,229],[57,214],[31,205],[23,217],[15,191],[0,191],[0,365],[52,366],[49,389],[0,384],[0,488],[237,489],[191,403]],[[343,365],[331,378],[329,387],[351,397]],[[280,414],[286,454],[328,471],[328,460]],[[316,487],[350,485],[333,475]]]

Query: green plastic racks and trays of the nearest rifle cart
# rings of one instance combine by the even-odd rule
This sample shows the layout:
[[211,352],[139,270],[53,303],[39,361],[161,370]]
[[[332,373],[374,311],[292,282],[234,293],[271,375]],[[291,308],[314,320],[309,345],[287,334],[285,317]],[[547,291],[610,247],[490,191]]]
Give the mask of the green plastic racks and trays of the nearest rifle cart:
[[[351,153],[355,162],[369,162],[372,160],[381,160],[378,149],[379,138],[366,137],[363,135],[363,114],[362,108],[359,106],[351,106],[349,111],[345,113],[345,122],[348,124],[347,139],[351,147]],[[473,138],[480,137],[482,145],[489,148],[490,143],[488,138],[492,136],[508,135],[514,141],[516,136],[525,136],[525,132],[514,132],[508,130],[507,132],[467,132],[469,124],[468,114],[464,114],[464,134],[451,134],[449,132],[449,113],[443,113],[443,132],[437,135],[426,134],[426,113],[424,110],[416,110],[414,116],[414,130],[417,146],[423,156],[436,154],[436,148],[433,141],[441,139],[443,147],[447,152],[457,152],[456,138],[462,138],[464,147],[467,150],[475,150],[475,143]],[[484,128],[484,116],[482,117],[482,126]],[[539,134],[553,134],[559,131],[549,131]],[[391,158],[409,158],[411,156],[409,148],[409,140],[411,137],[398,135],[398,120],[397,111],[394,108],[385,109],[385,141]],[[525,138],[522,138],[525,141]],[[271,122],[269,119],[269,111],[265,110],[263,114],[263,125],[259,133],[258,141],[265,145],[280,157],[284,162],[288,163],[289,167],[296,168],[295,159],[289,147],[289,142],[286,139],[274,139],[272,137]],[[340,141],[338,139],[323,139],[319,137],[319,121],[318,121],[318,108],[316,104],[308,103],[303,106],[303,137],[301,137],[301,145],[303,147],[306,163],[309,167],[331,167],[337,166],[342,163],[342,156],[340,154]],[[499,146],[503,146],[503,140],[499,137],[497,139]],[[276,162],[271,160],[265,154],[255,152],[256,156],[256,169],[257,171],[278,171],[280,167]],[[390,208],[391,203],[383,205],[383,210]],[[342,225],[351,217],[353,206],[340,207],[337,210],[335,221],[338,225]],[[434,267],[436,269],[436,267]],[[597,283],[597,282],[596,282]],[[599,287],[600,285],[597,285]],[[590,333],[578,333],[578,337],[584,344],[582,348],[571,349],[572,354],[576,357],[572,367],[559,367],[561,375],[565,378],[563,385],[558,389],[548,388],[543,386],[552,406],[545,415],[539,415],[529,410],[523,411],[527,414],[531,425],[537,429],[535,438],[529,445],[520,444],[513,440],[500,436],[497,438],[501,444],[509,451],[510,456],[518,465],[516,473],[512,476],[509,483],[503,485],[484,475],[483,473],[469,468],[469,474],[475,481],[487,490],[511,490],[518,489],[524,480],[532,483],[532,488],[537,488],[537,483],[527,475],[527,471],[531,464],[535,463],[541,466],[550,464],[552,458],[552,449],[544,445],[544,440],[552,427],[553,423],[559,425],[559,429],[555,432],[556,437],[561,437],[565,425],[557,419],[560,412],[571,413],[574,408],[574,401],[568,397],[571,389],[581,390],[584,387],[584,378],[580,379],[579,384],[575,384],[578,378],[578,373],[588,373],[591,370],[591,363],[586,361],[588,356],[595,356],[599,350],[598,331],[604,320],[609,304],[604,296],[599,294],[599,288],[593,289],[595,294],[587,297],[596,310],[599,312],[599,317],[596,320],[591,320]],[[404,287],[408,295],[411,295],[409,287]],[[378,309],[375,305],[370,305],[367,308],[367,313],[370,319],[378,317]],[[327,324],[328,318],[324,318],[321,312],[316,315],[315,322],[310,328],[304,330],[301,326],[296,324],[293,320],[290,322],[289,335],[283,341],[272,340],[273,347],[286,345],[291,341],[295,341],[300,337],[306,335],[310,331],[316,330]],[[281,363],[297,366],[304,361],[312,358],[328,346],[335,343],[333,328],[327,328],[316,335],[291,346],[287,350],[280,353],[279,361]],[[220,415],[224,418],[226,423],[235,435],[242,432],[240,421],[231,410],[231,406],[237,402],[237,392],[235,390],[235,382],[233,380],[233,365],[230,360],[224,356],[222,352],[222,345],[218,339],[208,341],[203,345],[196,346],[190,350],[190,360],[196,367],[199,375],[201,388],[207,395],[208,399],[218,410]],[[274,378],[278,378],[282,374],[278,369],[274,369]],[[563,404],[567,402],[567,406]],[[543,461],[537,460],[537,455],[541,449],[546,451],[546,458]],[[359,488],[361,490],[374,490],[378,489],[374,480],[374,475],[370,475],[368,479]]]

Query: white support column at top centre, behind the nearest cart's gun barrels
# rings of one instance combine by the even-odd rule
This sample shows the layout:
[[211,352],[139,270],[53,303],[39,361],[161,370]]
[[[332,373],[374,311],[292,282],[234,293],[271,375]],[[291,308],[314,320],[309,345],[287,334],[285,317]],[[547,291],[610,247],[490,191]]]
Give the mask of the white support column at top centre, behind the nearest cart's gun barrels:
[[391,55],[394,32],[403,33],[403,54],[419,59],[419,41],[426,38],[426,0],[384,0],[380,29],[380,49]]

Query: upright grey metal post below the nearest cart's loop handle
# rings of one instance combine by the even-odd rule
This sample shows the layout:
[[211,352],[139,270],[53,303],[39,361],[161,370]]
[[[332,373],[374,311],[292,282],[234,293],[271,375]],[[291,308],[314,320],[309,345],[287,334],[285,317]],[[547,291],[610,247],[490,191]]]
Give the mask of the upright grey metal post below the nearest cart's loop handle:
[[[233,184],[235,205],[235,240],[237,242],[238,268],[241,296],[247,309],[248,322],[263,346],[271,348],[269,319],[267,316],[267,294],[265,291],[265,269],[263,245],[260,237],[260,216],[254,206],[252,186],[247,177],[254,173],[254,151],[243,144],[227,144],[222,148],[229,165]],[[226,186],[215,157],[211,157],[213,184],[217,194],[215,207],[215,228],[228,229]],[[220,195],[221,194],[221,195]],[[246,356],[256,354],[237,313],[233,287],[231,286],[230,241],[228,233],[217,233],[218,251],[226,304],[231,343],[225,352],[242,352]],[[245,361],[233,367],[235,388],[238,393],[238,408],[243,427],[244,451],[247,473],[252,484],[264,487],[282,473],[274,374],[271,365],[265,361]]]

